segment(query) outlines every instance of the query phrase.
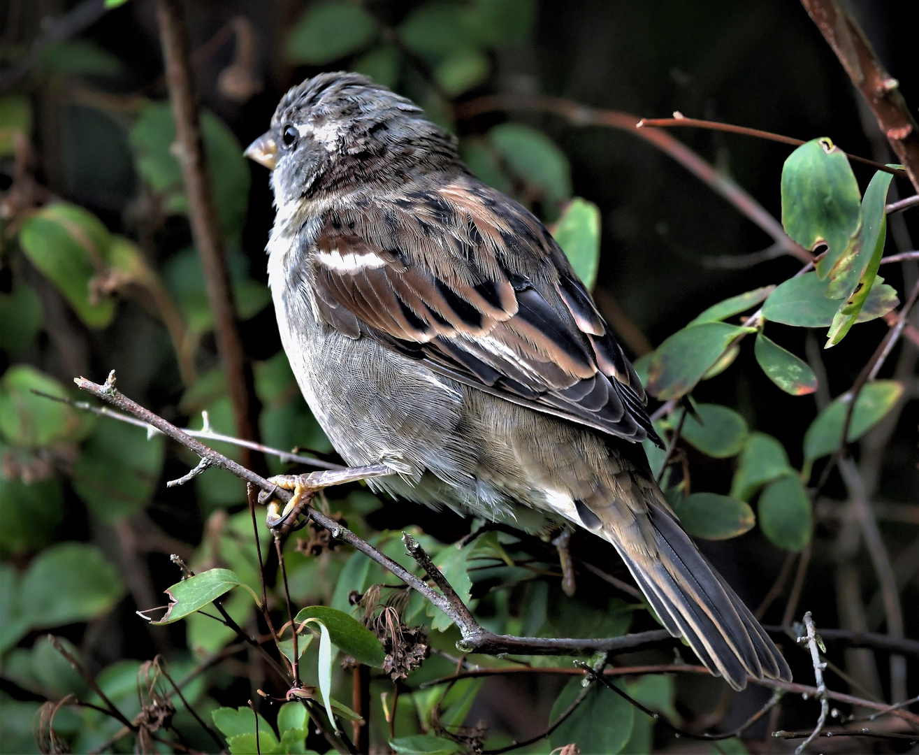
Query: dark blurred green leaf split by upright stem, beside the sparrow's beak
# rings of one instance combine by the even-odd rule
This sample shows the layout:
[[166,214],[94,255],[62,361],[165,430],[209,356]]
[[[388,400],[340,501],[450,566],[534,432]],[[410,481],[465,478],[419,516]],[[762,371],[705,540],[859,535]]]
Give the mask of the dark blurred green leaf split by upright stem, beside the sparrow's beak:
[[[245,224],[251,181],[249,166],[233,132],[208,110],[201,112],[201,136],[221,228],[233,243],[239,240]],[[176,124],[167,102],[147,105],[130,130],[137,172],[154,192],[163,195],[169,212],[187,215],[182,168],[172,153],[175,141]]]

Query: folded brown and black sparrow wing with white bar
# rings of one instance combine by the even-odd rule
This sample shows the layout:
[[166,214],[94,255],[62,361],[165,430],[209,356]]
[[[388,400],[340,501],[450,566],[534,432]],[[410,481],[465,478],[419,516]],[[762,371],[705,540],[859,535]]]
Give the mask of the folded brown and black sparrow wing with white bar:
[[473,177],[329,212],[316,303],[370,337],[508,401],[660,444],[641,381],[562,249]]

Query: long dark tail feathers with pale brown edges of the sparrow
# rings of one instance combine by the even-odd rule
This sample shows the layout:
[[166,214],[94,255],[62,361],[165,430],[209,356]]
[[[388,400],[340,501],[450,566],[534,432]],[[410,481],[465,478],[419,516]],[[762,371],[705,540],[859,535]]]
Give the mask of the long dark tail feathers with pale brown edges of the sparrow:
[[[597,534],[616,546],[670,634],[685,637],[711,673],[724,677],[735,690],[743,690],[748,675],[791,681],[785,658],[743,601],[699,553],[660,489],[648,486],[643,492],[646,514],[633,509],[636,516],[628,525],[640,532],[626,533],[620,527],[614,532],[601,526]],[[623,536],[627,534],[630,536]]]

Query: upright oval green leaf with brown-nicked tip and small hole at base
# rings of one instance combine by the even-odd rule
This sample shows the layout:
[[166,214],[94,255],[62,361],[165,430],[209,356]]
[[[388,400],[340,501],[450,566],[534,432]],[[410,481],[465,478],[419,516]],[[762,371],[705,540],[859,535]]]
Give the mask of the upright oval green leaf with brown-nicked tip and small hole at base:
[[801,144],[782,167],[782,225],[801,246],[828,246],[817,262],[823,280],[856,243],[861,196],[845,153],[823,137]]

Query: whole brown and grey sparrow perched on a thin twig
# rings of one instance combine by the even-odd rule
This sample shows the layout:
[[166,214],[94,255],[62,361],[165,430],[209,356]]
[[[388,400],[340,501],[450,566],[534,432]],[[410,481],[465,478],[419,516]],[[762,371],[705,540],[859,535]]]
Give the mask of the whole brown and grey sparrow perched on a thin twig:
[[302,394],[376,490],[612,543],[670,633],[734,689],[790,680],[667,504],[641,381],[560,246],[405,97],[345,72],[281,99],[268,281]]

